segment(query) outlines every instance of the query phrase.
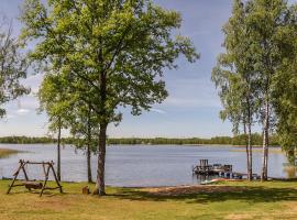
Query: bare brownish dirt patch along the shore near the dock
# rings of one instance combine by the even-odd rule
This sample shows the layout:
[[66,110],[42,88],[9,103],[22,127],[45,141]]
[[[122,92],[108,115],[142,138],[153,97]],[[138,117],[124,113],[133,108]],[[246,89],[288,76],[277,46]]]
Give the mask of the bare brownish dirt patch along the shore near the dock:
[[244,191],[246,187],[242,186],[176,186],[176,187],[160,187],[143,189],[154,195],[178,196],[196,193],[228,193],[228,191]]

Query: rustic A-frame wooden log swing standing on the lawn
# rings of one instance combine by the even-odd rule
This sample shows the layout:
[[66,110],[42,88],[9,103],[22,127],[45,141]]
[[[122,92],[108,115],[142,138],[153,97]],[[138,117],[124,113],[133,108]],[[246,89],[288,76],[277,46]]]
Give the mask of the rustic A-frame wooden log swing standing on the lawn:
[[[20,160],[19,163],[20,163],[20,166],[16,169],[16,172],[13,174],[14,178],[13,178],[11,185],[9,185],[9,189],[8,189],[7,194],[9,194],[11,191],[12,187],[18,187],[18,186],[24,186],[30,191],[31,191],[31,189],[41,189],[40,196],[42,196],[43,191],[46,190],[46,189],[48,189],[48,190],[59,189],[59,193],[63,193],[62,185],[59,184],[59,182],[57,179],[57,176],[56,176],[56,172],[55,172],[55,168],[54,168],[54,162],[53,161],[52,162],[29,162],[29,161],[26,161],[25,162],[24,160]],[[28,165],[28,164],[33,164],[33,165],[35,164],[35,165],[42,165],[43,166],[43,172],[44,172],[44,176],[45,176],[44,183],[40,183],[40,182],[29,179],[26,170],[25,170],[25,165]],[[48,180],[48,175],[50,175],[51,169],[53,172],[53,175],[54,175],[55,182],[57,184],[57,187],[46,187],[46,183]],[[21,182],[21,184],[14,184],[21,170],[24,173],[25,180]]]

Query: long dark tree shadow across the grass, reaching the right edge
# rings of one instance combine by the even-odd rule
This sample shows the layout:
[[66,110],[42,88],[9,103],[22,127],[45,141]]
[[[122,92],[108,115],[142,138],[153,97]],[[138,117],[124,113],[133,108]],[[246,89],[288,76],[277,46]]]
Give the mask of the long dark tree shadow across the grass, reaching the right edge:
[[[232,190],[233,188],[233,190]],[[184,195],[162,195],[157,193],[119,189],[117,194],[109,195],[118,199],[139,201],[168,201],[183,200],[188,204],[210,204],[228,200],[238,200],[250,204],[297,201],[297,189],[266,188],[266,187],[230,187],[229,191],[197,191]]]

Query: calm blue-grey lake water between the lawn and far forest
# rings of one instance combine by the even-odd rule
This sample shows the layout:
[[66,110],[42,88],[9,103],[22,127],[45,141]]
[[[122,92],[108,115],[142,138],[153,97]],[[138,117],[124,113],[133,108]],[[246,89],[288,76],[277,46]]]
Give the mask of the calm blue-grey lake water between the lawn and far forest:
[[[0,160],[0,178],[12,177],[19,160],[56,161],[56,146],[46,144],[0,144],[0,148],[24,151]],[[111,186],[174,186],[198,184],[191,167],[201,158],[209,163],[232,164],[234,172],[245,173],[245,152],[231,146],[179,146],[179,145],[112,145],[107,147],[106,183]],[[92,156],[92,172],[96,177],[97,157]],[[262,153],[253,156],[254,173],[260,174]],[[268,176],[288,177],[284,167],[286,157],[270,153]],[[62,150],[62,179],[85,182],[87,179],[86,155],[72,146]],[[42,179],[41,166],[28,166],[29,177]]]

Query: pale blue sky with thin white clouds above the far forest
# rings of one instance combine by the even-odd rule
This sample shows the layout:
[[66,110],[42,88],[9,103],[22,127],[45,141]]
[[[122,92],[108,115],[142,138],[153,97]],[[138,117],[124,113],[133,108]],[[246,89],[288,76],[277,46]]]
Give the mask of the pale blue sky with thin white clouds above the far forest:
[[[294,0],[296,2],[296,0]],[[14,18],[13,29],[18,33],[21,24],[15,19],[22,0],[0,0],[0,13]],[[200,59],[187,63],[183,57],[176,63],[176,70],[165,69],[168,98],[155,105],[150,112],[140,117],[123,110],[123,120],[111,124],[108,135],[112,138],[210,138],[232,135],[229,121],[222,122],[222,109],[215,85],[210,80],[216,58],[223,52],[221,44],[222,25],[231,15],[232,0],[154,0],[155,3],[182,13],[179,33],[191,38]],[[42,81],[42,74],[29,75],[24,84],[32,94],[7,105],[7,117],[0,121],[0,136],[29,135],[43,136],[47,132],[45,113],[38,114],[35,92]],[[67,135],[67,131],[64,132]]]

